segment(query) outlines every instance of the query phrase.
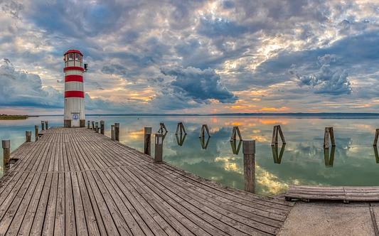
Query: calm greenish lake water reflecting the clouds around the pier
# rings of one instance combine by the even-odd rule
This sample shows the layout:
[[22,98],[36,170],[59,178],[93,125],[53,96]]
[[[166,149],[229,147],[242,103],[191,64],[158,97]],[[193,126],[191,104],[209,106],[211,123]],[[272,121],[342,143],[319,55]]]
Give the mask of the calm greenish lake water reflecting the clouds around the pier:
[[[378,119],[321,119],[294,117],[95,117],[105,120],[105,135],[110,136],[110,125],[120,123],[120,141],[143,151],[144,127],[153,133],[164,122],[169,133],[164,139],[164,161],[198,176],[234,188],[244,188],[242,146],[233,154],[230,135],[238,126],[243,139],[256,140],[256,193],[273,195],[284,193],[291,184],[323,186],[378,186],[379,158],[375,157],[373,138]],[[0,139],[11,139],[11,150],[25,141],[25,131],[32,131],[41,120],[49,127],[63,126],[63,117],[31,117],[26,120],[0,121]],[[175,130],[183,122],[188,134],[178,145]],[[211,137],[203,144],[198,139],[202,124],[208,124]],[[280,124],[287,145],[271,147],[272,129]],[[336,148],[324,152],[324,128],[333,127]],[[184,137],[182,136],[182,139]],[[153,137],[154,139],[154,137]],[[180,135],[178,136],[179,144]],[[208,146],[206,146],[208,141]],[[206,146],[206,149],[203,147]],[[238,141],[234,149],[238,148]],[[154,156],[154,144],[151,146]],[[282,156],[280,156],[282,152]],[[1,151],[2,159],[2,151]],[[1,163],[2,165],[2,163]],[[2,168],[1,168],[2,169]]]

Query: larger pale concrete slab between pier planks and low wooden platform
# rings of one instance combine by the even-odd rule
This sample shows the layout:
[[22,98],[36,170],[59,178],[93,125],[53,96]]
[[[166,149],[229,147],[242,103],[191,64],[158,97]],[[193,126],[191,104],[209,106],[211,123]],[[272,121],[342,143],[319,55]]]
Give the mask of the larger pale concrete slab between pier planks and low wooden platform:
[[370,203],[297,202],[278,235],[375,235]]

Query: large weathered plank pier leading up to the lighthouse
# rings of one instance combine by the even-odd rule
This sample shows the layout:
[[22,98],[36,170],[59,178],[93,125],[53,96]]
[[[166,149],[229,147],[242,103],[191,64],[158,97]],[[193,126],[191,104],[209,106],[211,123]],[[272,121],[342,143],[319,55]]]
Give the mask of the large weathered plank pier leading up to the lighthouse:
[[275,235],[294,203],[213,183],[90,129],[11,154],[0,235]]

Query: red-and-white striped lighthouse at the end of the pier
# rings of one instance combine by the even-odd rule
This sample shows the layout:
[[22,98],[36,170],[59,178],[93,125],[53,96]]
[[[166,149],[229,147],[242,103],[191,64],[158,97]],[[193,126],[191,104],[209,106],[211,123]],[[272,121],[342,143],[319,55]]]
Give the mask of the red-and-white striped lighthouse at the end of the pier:
[[64,127],[85,127],[83,55],[79,50],[65,53],[65,114]]

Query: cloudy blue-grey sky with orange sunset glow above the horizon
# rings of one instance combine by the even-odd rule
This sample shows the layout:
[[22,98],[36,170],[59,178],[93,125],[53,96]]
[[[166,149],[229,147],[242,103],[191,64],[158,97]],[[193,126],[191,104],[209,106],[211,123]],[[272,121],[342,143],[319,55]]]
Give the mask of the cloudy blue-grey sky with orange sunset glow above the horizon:
[[0,0],[0,114],[379,112],[379,1]]

